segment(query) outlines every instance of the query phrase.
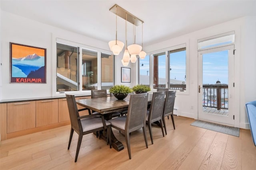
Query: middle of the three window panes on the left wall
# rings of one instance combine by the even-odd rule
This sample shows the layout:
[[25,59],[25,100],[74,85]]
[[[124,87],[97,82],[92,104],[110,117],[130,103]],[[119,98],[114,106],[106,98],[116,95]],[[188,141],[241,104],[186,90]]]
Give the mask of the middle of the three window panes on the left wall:
[[82,89],[98,89],[97,52],[82,49]]

